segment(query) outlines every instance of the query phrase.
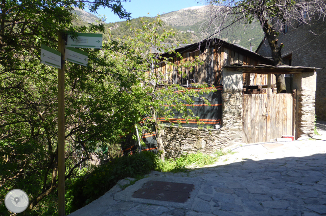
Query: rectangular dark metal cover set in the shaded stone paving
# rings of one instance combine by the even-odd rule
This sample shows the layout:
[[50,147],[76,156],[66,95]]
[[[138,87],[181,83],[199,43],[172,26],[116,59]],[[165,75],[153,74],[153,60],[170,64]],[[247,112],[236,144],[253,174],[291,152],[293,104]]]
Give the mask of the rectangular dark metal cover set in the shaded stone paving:
[[192,184],[148,181],[132,196],[143,199],[186,202],[193,188],[194,185]]

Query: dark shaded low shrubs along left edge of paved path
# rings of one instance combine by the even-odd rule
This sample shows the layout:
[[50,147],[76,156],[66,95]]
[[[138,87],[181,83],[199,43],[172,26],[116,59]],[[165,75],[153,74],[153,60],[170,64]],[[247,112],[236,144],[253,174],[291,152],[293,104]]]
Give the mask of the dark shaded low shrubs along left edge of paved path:
[[117,181],[126,177],[139,178],[155,170],[158,156],[148,151],[115,158],[113,161],[95,167],[86,177],[81,176],[67,185],[71,201],[67,212],[71,213],[105,194]]

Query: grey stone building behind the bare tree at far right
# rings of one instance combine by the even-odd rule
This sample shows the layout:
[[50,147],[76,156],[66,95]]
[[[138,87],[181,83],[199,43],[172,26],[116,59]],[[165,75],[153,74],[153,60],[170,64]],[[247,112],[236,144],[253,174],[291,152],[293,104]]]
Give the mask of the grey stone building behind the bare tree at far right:
[[[284,26],[278,37],[278,43],[284,44],[282,48],[284,64],[322,68],[317,70],[316,115],[317,118],[326,121],[326,22],[313,20],[311,25],[296,23],[294,26]],[[271,57],[268,42],[263,40],[256,53]],[[287,91],[291,91],[293,77],[285,78]]]

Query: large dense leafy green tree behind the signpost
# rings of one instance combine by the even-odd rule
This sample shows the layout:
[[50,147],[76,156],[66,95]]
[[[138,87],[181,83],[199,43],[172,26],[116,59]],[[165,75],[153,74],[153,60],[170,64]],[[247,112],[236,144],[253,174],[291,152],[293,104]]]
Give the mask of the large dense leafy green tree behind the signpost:
[[[73,6],[93,12],[108,7],[127,19],[130,14],[120,0],[2,0],[0,5],[0,194],[23,189],[32,210],[57,188],[57,70],[40,64],[41,43],[56,48],[58,31],[103,31],[103,25],[73,27]],[[134,122],[133,95],[120,92],[134,76],[116,69],[115,60],[100,50],[85,51],[88,67],[67,64],[66,179]]]

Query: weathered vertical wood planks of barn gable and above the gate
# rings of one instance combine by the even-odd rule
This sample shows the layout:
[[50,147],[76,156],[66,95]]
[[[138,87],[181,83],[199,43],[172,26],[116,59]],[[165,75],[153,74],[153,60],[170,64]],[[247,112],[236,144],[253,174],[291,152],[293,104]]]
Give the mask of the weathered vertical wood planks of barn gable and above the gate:
[[[230,48],[215,45],[207,47],[204,52],[200,50],[189,50],[181,54],[181,58],[174,57],[173,62],[177,66],[169,66],[161,64],[158,69],[161,74],[165,74],[166,84],[186,85],[191,83],[208,83],[214,86],[222,84],[222,66],[243,64],[258,65],[259,61],[246,55],[238,53]],[[180,68],[181,62],[194,61],[199,58],[203,61],[203,65],[196,65],[191,68]],[[172,60],[171,60],[172,62]],[[179,71],[182,71],[182,73]],[[183,77],[183,74],[186,76]],[[163,75],[164,77],[164,75]],[[271,84],[275,84],[275,76]],[[263,86],[267,85],[267,75],[265,74],[243,74],[244,86]]]

